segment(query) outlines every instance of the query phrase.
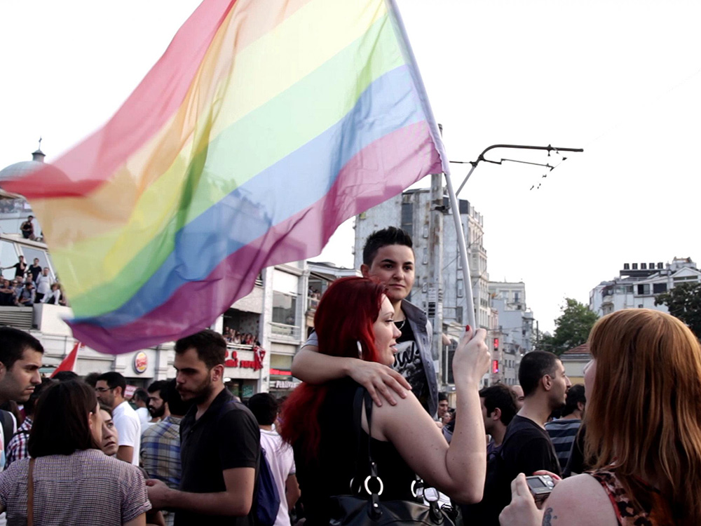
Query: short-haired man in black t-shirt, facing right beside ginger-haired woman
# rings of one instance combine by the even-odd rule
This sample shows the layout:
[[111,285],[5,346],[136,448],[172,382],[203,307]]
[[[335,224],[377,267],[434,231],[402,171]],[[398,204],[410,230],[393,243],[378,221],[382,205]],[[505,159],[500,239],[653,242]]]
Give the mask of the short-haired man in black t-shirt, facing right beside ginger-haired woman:
[[545,470],[560,475],[545,422],[553,410],[565,405],[572,385],[564,365],[553,353],[527,353],[519,366],[519,384],[524,405],[506,429],[501,450],[487,463],[484,498],[478,506],[481,515],[475,524],[498,526],[499,513],[511,501],[511,481],[519,473],[531,476]]

